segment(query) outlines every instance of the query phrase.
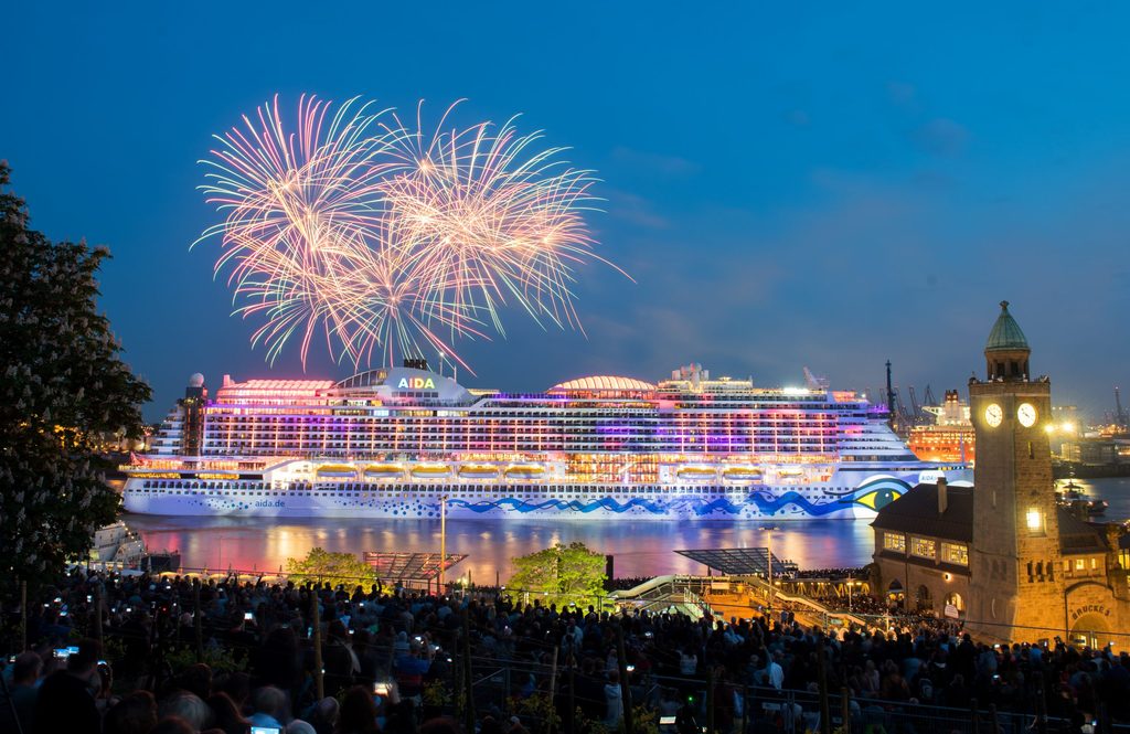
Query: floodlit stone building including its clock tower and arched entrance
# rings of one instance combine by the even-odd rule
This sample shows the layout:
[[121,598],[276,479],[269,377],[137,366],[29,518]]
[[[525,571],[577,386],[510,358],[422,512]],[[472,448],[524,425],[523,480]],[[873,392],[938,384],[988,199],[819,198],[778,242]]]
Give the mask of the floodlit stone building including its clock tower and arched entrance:
[[877,589],[907,608],[965,620],[985,640],[1063,637],[1130,646],[1130,587],[1119,528],[1055,503],[1046,424],[1051,382],[1001,303],[970,380],[974,486],[921,484],[879,511]]

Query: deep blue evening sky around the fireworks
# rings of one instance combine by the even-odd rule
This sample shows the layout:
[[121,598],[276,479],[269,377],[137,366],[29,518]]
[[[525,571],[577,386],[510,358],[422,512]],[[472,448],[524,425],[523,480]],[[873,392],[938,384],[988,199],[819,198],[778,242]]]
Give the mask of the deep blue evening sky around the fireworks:
[[303,92],[468,97],[460,121],[522,113],[599,172],[599,252],[637,283],[580,273],[586,336],[506,312],[505,340],[460,343],[466,385],[695,361],[872,389],[889,359],[940,396],[983,370],[1002,299],[1058,403],[1098,417],[1130,383],[1130,6],[244,5],[6,12],[0,158],[34,226],[111,248],[102,303],[150,418],[192,372],[302,374],[251,349],[218,249],[189,244],[219,221],[210,136]]

